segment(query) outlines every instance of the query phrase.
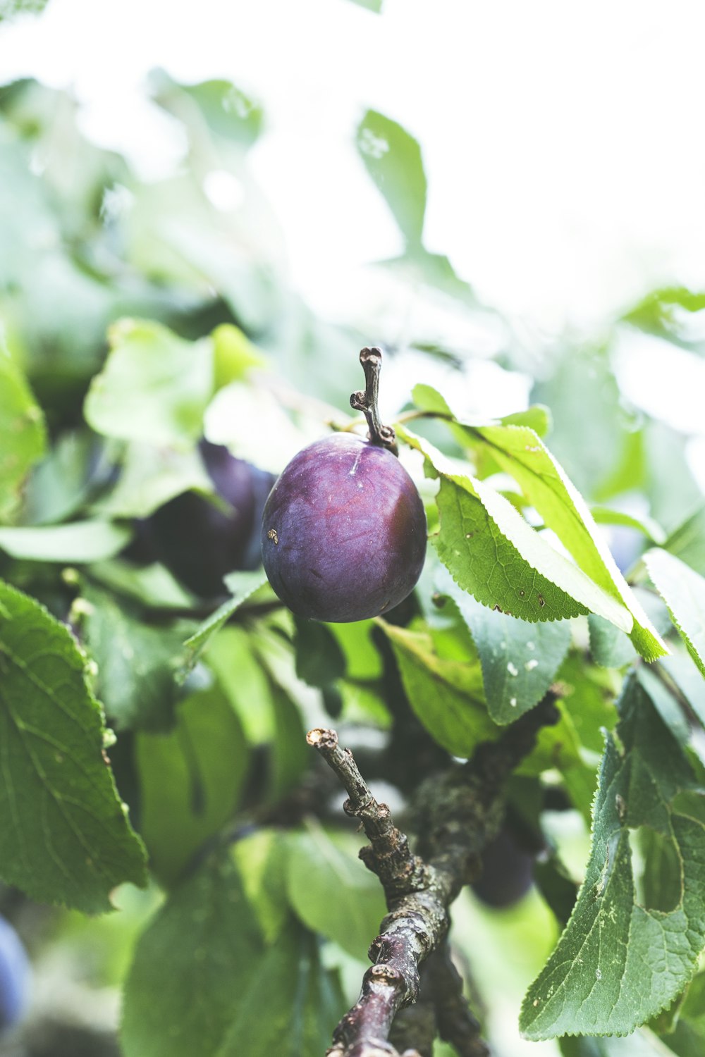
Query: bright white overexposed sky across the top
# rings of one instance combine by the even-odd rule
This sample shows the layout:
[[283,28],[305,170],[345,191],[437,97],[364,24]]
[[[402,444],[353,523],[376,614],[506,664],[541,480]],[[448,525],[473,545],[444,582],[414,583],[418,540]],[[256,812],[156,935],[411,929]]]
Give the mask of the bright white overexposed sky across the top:
[[[254,165],[316,308],[398,236],[352,148],[373,106],[414,133],[427,242],[533,326],[593,324],[645,288],[705,286],[701,0],[50,0],[0,30],[0,78],[73,86],[143,172],[174,157],[138,105],[154,66],[263,98]],[[177,141],[178,149],[178,141]]]

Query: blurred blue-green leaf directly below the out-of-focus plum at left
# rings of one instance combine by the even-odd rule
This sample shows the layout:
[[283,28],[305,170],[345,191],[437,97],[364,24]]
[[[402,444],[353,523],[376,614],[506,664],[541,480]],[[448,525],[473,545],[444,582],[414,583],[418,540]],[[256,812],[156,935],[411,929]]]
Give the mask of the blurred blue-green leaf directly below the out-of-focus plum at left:
[[97,664],[95,692],[117,729],[168,730],[177,701],[174,672],[183,630],[151,627],[106,592],[85,592],[84,632]]

